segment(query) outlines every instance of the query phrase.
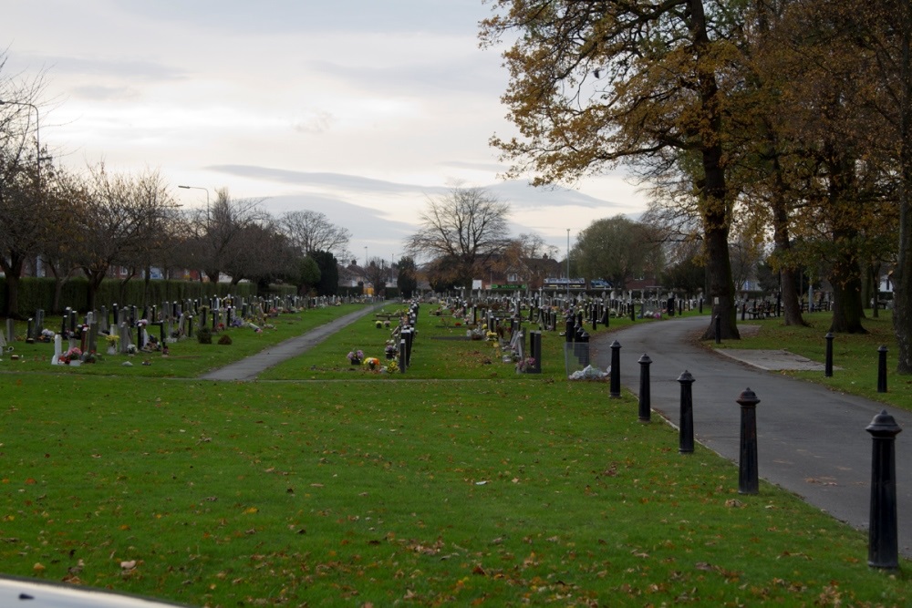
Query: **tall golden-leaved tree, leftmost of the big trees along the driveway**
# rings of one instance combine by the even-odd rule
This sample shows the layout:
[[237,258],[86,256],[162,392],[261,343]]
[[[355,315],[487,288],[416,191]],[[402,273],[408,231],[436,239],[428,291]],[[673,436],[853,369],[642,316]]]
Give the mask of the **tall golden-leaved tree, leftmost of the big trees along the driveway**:
[[[503,96],[519,137],[492,138],[510,175],[572,182],[622,160],[689,176],[710,298],[738,337],[728,251],[732,196],[725,117],[732,7],[703,0],[496,0],[482,44],[512,36]],[[710,323],[706,335],[714,334]]]

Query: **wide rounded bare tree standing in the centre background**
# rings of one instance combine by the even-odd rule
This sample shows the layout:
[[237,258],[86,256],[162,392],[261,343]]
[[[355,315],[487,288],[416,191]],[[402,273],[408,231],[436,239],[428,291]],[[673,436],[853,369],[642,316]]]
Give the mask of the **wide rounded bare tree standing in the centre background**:
[[479,264],[502,252],[508,241],[510,205],[481,188],[453,186],[438,199],[429,199],[420,215],[419,232],[406,241],[416,258],[444,260],[448,283],[472,287]]

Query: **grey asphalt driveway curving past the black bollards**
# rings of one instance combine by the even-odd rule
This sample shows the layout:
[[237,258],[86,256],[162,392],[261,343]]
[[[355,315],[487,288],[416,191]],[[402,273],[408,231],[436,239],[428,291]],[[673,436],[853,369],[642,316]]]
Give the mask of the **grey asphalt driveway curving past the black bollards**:
[[[601,369],[610,366],[610,346],[617,340],[621,384],[638,395],[637,361],[648,355],[654,421],[658,412],[676,425],[678,377],[688,370],[695,379],[691,386],[695,439],[735,463],[741,444],[741,407],[736,399],[751,388],[760,399],[760,477],[860,530],[867,529],[870,517],[873,441],[865,428],[886,409],[906,430],[896,436],[898,546],[902,555],[912,557],[912,412],[783,376],[776,369],[794,365],[784,352],[777,357],[763,351],[761,358],[740,350],[736,359],[720,354],[724,349],[705,348],[699,337],[709,324],[709,315],[689,316],[596,335],[592,360]],[[834,361],[834,374],[839,373],[839,365]],[[887,389],[891,380],[896,381],[895,376],[888,374]],[[637,410],[629,415],[637,417]]]

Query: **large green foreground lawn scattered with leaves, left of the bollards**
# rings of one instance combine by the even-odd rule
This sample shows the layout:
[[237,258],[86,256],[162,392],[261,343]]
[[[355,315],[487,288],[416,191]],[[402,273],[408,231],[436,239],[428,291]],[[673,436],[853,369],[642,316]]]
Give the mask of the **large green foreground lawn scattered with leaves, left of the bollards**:
[[565,381],[556,333],[517,375],[438,325],[420,315],[405,375],[346,365],[385,340],[369,319],[286,380],[0,374],[0,572],[207,606],[912,600],[864,533],[739,495],[633,396]]

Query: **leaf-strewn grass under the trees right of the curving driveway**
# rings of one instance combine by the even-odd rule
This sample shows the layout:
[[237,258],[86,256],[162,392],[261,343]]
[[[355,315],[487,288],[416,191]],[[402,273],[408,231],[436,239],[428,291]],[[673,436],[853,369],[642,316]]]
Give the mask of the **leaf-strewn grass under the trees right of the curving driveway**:
[[[868,311],[870,314],[870,311]],[[741,340],[725,341],[722,345],[707,343],[715,348],[784,349],[823,364],[826,361],[826,339],[832,313],[804,314],[808,327],[786,327],[779,319],[743,322],[741,327],[757,329],[743,331]],[[868,317],[863,324],[867,334],[838,334],[833,340],[833,376],[824,372],[784,371],[794,376],[830,386],[833,390],[880,401],[891,407],[912,409],[912,376],[896,374],[896,334],[893,332],[891,311],[879,311],[877,318]],[[887,348],[887,392],[877,392],[877,349]]]

